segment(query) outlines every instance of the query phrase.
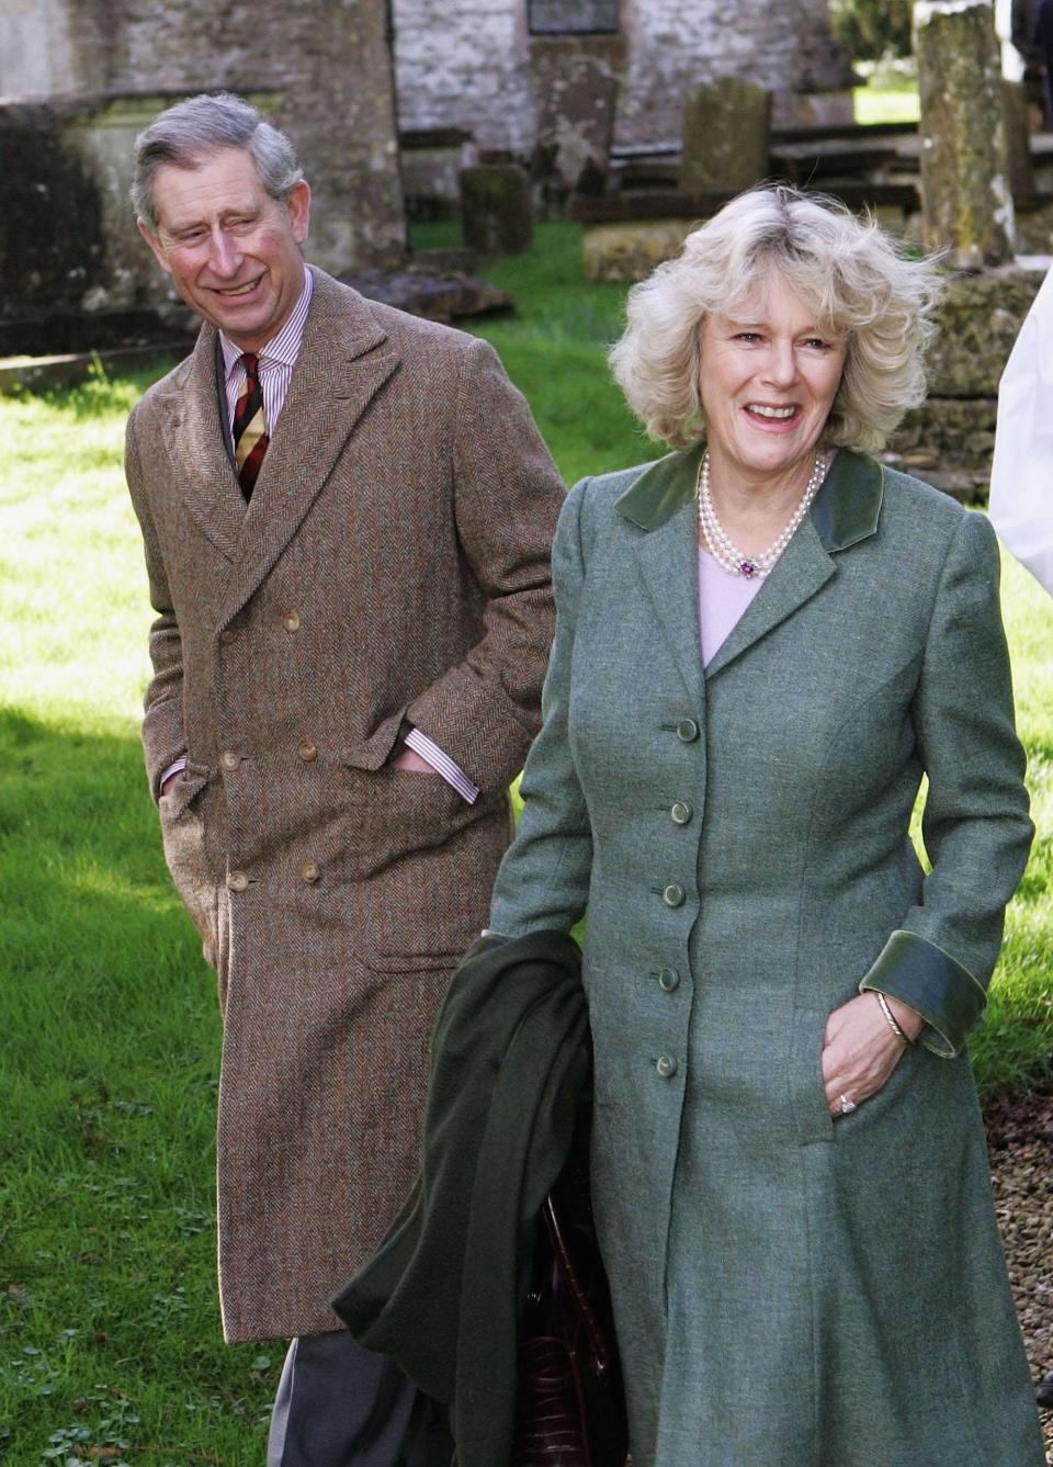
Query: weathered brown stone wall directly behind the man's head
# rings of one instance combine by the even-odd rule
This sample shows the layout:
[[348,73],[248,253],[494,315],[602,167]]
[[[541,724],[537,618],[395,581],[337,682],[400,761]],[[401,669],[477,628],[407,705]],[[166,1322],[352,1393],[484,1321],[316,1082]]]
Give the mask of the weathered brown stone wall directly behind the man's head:
[[314,189],[307,254],[346,270],[405,248],[386,25],[384,0],[0,0],[0,94],[142,120],[189,92],[263,94]]

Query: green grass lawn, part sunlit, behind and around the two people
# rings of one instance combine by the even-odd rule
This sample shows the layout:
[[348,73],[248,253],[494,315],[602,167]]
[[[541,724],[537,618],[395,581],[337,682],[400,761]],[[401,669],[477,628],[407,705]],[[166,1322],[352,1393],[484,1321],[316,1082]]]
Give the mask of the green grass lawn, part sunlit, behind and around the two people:
[[[439,242],[441,230],[430,232]],[[568,480],[648,446],[606,377],[622,292],[585,288],[570,226],[496,266],[481,329]],[[263,1461],[279,1345],[229,1350],[214,1295],[213,978],[167,882],[138,744],[138,528],[120,472],[145,376],[0,399],[0,1458]],[[1006,566],[1043,832],[1009,918],[981,1084],[1053,1049],[1053,601]]]

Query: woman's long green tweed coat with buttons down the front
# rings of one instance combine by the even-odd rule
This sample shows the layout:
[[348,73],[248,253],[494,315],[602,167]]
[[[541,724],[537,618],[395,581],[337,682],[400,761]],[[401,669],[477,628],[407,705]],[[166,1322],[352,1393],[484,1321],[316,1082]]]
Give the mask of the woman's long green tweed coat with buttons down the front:
[[[700,453],[566,502],[490,915],[519,936],[588,907],[635,1467],[1040,1467],[964,1053],[1032,835],[994,535],[840,452],[702,669]],[[834,1122],[823,1030],[861,987],[928,1022]]]

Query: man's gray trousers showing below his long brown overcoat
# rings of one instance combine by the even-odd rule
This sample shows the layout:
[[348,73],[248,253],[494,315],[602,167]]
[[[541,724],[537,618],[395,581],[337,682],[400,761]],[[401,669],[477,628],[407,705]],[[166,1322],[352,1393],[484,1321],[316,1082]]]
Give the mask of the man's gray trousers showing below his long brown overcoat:
[[293,1339],[267,1467],[450,1467],[449,1413],[345,1331]]

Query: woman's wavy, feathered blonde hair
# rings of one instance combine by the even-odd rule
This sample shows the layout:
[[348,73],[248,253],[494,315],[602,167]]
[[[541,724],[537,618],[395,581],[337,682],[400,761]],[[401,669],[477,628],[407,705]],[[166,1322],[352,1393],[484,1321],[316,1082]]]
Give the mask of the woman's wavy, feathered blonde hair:
[[695,229],[680,254],[629,292],[628,326],[610,352],[625,398],[653,439],[702,437],[701,326],[730,315],[771,276],[846,339],[840,387],[821,442],[880,449],[925,396],[924,351],[940,293],[934,260],[911,260],[873,219],[789,185],[741,194]]

